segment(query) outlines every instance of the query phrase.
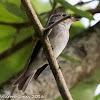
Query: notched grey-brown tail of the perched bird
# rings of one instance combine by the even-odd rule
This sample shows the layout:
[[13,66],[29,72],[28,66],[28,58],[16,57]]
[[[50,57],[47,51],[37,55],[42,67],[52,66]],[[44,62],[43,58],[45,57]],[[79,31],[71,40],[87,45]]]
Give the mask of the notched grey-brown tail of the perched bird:
[[28,83],[30,82],[30,80],[32,79],[34,74],[31,74],[29,76],[25,76],[25,73],[23,73],[14,83],[13,83],[13,87],[18,85],[18,89],[21,91],[25,91]]

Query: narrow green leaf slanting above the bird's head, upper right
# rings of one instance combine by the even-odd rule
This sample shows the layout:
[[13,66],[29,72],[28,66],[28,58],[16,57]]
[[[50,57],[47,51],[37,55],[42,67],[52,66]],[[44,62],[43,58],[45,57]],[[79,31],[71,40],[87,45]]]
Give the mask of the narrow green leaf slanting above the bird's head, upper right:
[[63,7],[72,10],[73,12],[75,12],[75,14],[80,15],[82,17],[86,17],[90,20],[93,20],[93,16],[91,13],[87,12],[87,11],[82,11],[80,9],[77,9],[75,6],[72,6],[71,4],[69,4],[67,1],[65,0],[55,0],[56,2],[59,2]]

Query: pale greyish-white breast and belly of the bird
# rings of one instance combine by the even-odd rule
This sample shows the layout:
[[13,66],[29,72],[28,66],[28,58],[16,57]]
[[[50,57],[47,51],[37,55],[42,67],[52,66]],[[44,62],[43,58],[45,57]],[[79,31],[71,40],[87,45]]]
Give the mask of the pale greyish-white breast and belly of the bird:
[[53,48],[54,56],[57,58],[66,47],[69,40],[69,32],[64,25],[55,26],[50,35],[50,43]]

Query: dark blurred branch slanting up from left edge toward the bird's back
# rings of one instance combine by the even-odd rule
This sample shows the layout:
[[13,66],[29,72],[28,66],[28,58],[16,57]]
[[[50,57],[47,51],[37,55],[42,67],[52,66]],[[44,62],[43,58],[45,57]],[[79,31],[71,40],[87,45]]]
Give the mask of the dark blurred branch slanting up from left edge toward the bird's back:
[[12,48],[4,51],[3,53],[0,54],[0,61],[3,60],[4,58],[7,58],[10,55],[12,55],[13,53],[15,53],[19,49],[23,48],[26,44],[28,44],[30,42],[32,42],[32,37],[29,37],[29,38],[23,40],[22,42],[16,44]]

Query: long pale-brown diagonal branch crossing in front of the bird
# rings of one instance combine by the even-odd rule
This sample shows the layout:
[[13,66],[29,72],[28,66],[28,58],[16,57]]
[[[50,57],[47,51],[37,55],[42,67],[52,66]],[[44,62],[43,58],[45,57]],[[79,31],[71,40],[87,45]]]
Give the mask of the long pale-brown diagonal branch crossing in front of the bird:
[[[34,9],[32,8],[30,0],[21,0],[21,1],[26,9],[26,13],[27,13],[28,17],[30,18],[30,20],[34,26],[35,31],[38,33],[39,36],[43,36],[44,28],[42,27]],[[43,44],[43,49],[46,51],[47,60],[50,64],[50,68],[53,72],[56,83],[58,85],[58,89],[62,95],[63,100],[73,100],[69,93],[67,85],[65,83],[62,72],[59,69],[57,60],[55,59],[55,57],[53,55],[53,51],[52,51],[51,44],[49,42],[48,37],[41,38],[41,42]]]

